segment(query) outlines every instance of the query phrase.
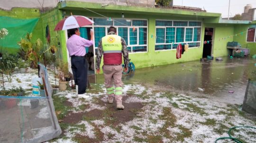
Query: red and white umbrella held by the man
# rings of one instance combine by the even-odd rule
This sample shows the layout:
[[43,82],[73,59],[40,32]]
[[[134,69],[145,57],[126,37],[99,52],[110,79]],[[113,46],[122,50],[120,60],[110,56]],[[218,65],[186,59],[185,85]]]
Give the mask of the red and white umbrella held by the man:
[[55,27],[55,31],[57,30],[67,30],[67,29],[73,29],[73,28],[78,28],[82,27],[85,25],[91,25],[94,22],[83,16],[69,16],[64,19],[62,19]]

